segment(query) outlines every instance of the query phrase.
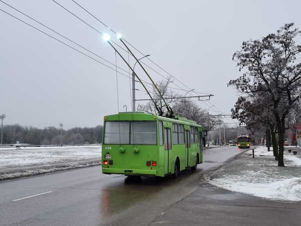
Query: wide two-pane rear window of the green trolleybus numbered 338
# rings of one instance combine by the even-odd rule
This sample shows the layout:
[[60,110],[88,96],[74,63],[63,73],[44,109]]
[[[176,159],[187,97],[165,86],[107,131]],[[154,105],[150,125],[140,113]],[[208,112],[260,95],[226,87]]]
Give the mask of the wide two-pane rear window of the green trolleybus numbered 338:
[[105,122],[104,144],[157,145],[156,122]]

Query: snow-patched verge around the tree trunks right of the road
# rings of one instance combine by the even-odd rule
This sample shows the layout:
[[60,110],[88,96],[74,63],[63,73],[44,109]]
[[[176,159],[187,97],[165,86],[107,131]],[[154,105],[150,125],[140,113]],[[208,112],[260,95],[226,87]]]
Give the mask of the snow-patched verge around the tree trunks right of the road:
[[274,200],[301,201],[301,150],[293,155],[288,149],[300,148],[285,148],[285,167],[277,166],[272,150],[268,152],[266,147],[256,147],[255,158],[250,149],[204,178],[214,186],[235,192]]

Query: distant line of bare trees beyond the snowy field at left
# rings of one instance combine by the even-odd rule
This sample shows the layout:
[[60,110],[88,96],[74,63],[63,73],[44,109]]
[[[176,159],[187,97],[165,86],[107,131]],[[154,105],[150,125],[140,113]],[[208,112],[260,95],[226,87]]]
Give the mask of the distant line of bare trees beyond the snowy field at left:
[[[103,127],[98,125],[92,128],[72,128],[62,130],[63,145],[101,144]],[[0,138],[1,139],[1,138]],[[3,126],[3,144],[31,145],[61,145],[61,129],[45,127],[23,127],[19,124]]]

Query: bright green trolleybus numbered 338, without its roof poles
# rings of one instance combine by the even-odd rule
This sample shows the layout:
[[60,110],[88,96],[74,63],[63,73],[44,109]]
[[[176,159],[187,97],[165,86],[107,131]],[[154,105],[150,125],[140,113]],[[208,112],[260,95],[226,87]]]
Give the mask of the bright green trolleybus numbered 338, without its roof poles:
[[183,117],[119,112],[105,116],[103,127],[103,174],[176,178],[203,162],[207,131]]

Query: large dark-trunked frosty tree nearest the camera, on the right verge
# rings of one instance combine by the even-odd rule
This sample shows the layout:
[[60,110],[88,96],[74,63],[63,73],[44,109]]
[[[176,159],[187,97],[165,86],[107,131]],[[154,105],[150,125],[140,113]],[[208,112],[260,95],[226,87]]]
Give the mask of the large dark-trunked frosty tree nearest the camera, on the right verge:
[[285,118],[301,97],[301,46],[295,41],[300,31],[293,25],[285,24],[260,40],[243,42],[233,55],[243,75],[228,83],[242,94],[256,93],[272,102],[278,129],[278,166],[284,166]]

